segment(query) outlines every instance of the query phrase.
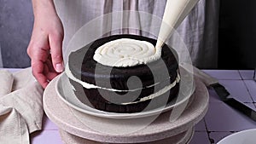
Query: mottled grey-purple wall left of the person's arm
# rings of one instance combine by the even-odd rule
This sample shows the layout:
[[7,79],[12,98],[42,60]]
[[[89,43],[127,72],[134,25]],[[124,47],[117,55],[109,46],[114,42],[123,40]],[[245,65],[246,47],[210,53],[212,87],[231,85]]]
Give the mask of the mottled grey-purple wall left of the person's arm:
[[0,0],[0,65],[10,68],[30,66],[26,47],[32,26],[31,0]]

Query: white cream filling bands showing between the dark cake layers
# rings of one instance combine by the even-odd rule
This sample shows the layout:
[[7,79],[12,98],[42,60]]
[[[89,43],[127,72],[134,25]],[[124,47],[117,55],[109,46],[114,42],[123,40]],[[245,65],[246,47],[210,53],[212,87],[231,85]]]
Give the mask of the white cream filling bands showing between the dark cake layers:
[[[68,78],[71,78],[73,81],[81,84],[84,88],[86,89],[107,89],[107,90],[110,90],[110,91],[117,91],[117,92],[126,92],[126,91],[135,91],[137,89],[129,89],[129,90],[119,90],[119,89],[108,89],[108,88],[102,88],[102,87],[99,87],[99,86],[96,86],[94,84],[88,84],[88,83],[85,83],[81,80],[79,80],[78,78],[75,78],[72,74],[72,72],[70,71],[69,69],[69,66],[68,66],[68,63],[67,63],[67,66],[65,68],[65,72],[67,74],[67,77]],[[140,101],[134,101],[134,102],[128,102],[128,103],[122,103],[122,105],[128,105],[128,104],[133,104],[133,103],[137,103],[137,102],[141,102],[141,101],[147,101],[147,100],[150,100],[150,99],[153,99],[159,95],[163,95],[165,94],[168,90],[172,89],[177,83],[179,83],[180,81],[180,76],[179,74],[177,73],[177,78],[174,80],[174,82],[172,82],[172,84],[166,86],[165,88],[163,89],[160,89],[159,91],[157,91],[156,93],[154,94],[151,94],[151,95],[148,95],[148,96],[145,96],[143,98],[140,99]],[[157,84],[160,84],[160,83],[157,83]],[[152,87],[154,85],[157,85],[157,84],[153,84],[153,85],[150,85],[148,86],[147,88],[149,87]],[[74,88],[73,88],[74,89]],[[143,88],[140,88],[140,89],[143,89]],[[75,90],[75,89],[74,89]]]

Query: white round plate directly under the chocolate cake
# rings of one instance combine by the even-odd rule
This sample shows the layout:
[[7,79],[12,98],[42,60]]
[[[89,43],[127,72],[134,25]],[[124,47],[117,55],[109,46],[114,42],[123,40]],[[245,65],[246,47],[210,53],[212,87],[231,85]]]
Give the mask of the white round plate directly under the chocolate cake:
[[183,89],[183,90],[179,90],[177,100],[171,101],[166,105],[166,107],[160,107],[150,111],[143,111],[143,112],[133,112],[133,113],[104,112],[104,111],[100,111],[95,108],[84,105],[75,96],[72,89],[73,86],[69,83],[69,80],[65,72],[61,73],[61,76],[58,77],[55,85],[56,86],[55,89],[56,89],[57,95],[59,95],[62,101],[64,101],[68,106],[78,110],[79,112],[84,112],[86,114],[90,114],[90,115],[93,115],[96,117],[102,117],[102,118],[143,118],[143,117],[160,114],[160,112],[166,112],[168,110],[171,110],[173,107],[181,106],[182,104],[184,105],[188,104],[189,97],[195,91],[195,83],[192,80],[193,77],[190,74],[188,74],[188,72],[187,73],[181,72],[181,73],[182,73],[181,74],[182,80],[180,84],[181,86],[180,89]]

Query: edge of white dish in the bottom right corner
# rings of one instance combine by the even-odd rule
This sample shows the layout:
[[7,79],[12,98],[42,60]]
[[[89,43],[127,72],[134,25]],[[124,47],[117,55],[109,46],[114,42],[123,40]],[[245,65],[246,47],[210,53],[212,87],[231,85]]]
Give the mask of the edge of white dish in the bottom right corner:
[[224,137],[217,144],[254,144],[256,143],[256,129],[242,130]]

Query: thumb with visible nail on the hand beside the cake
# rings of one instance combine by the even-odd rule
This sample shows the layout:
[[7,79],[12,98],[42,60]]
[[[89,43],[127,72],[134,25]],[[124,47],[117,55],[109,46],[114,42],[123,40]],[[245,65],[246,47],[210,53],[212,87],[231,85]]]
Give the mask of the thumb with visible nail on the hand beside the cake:
[[62,40],[62,37],[49,37],[51,60],[56,72],[62,72],[64,69],[62,56]]

